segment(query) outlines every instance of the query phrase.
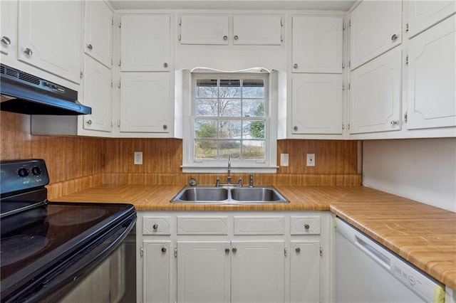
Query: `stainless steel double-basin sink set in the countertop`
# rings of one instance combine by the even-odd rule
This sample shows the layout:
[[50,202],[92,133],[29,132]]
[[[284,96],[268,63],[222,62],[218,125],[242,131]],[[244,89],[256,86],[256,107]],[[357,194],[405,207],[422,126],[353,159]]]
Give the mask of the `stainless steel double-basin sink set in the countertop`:
[[185,186],[172,203],[289,203],[273,186]]

